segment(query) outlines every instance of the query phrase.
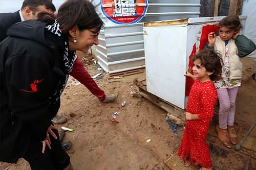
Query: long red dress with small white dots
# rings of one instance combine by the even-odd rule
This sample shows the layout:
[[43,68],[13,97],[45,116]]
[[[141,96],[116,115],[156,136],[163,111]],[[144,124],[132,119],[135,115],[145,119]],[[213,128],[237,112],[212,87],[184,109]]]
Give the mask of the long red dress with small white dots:
[[216,101],[217,90],[214,83],[202,83],[196,79],[190,90],[186,111],[198,114],[200,120],[186,120],[178,156],[205,168],[212,167],[206,136],[210,120],[214,116]]

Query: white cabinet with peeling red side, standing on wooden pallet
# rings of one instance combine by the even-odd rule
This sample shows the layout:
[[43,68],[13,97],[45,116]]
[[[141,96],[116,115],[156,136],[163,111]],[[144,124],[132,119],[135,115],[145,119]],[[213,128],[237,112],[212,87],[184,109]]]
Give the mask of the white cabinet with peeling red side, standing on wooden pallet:
[[[222,18],[188,18],[144,23],[147,91],[185,109],[193,85],[193,80],[184,77],[188,66],[193,66],[190,59],[204,48],[208,34],[218,31],[216,23]],[[240,19],[244,26],[246,16],[240,16]]]

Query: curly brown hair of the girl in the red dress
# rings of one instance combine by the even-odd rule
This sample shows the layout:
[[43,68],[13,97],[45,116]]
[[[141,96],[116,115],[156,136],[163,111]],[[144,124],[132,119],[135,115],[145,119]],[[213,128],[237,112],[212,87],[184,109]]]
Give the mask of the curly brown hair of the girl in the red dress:
[[221,79],[223,65],[223,61],[220,56],[221,55],[216,53],[214,50],[205,49],[197,53],[192,58],[192,61],[194,62],[199,59],[201,61],[201,65],[205,67],[206,71],[214,72],[209,76],[210,80],[217,81]]

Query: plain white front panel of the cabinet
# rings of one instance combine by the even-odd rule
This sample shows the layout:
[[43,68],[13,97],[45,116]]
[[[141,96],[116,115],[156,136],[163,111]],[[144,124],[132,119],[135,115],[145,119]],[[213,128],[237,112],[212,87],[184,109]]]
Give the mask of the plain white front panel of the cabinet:
[[147,91],[184,109],[187,26],[143,31]]

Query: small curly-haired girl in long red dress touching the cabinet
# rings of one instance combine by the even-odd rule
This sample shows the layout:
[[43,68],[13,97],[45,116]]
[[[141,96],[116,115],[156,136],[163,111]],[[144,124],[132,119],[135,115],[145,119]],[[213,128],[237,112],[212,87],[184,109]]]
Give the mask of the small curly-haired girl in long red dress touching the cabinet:
[[178,156],[184,160],[185,166],[193,163],[206,170],[212,168],[206,136],[217,101],[217,90],[212,81],[221,78],[222,60],[214,51],[203,50],[192,61],[194,76],[190,73],[191,69],[185,76],[193,78],[195,83],[191,87],[184,113],[186,126]]

